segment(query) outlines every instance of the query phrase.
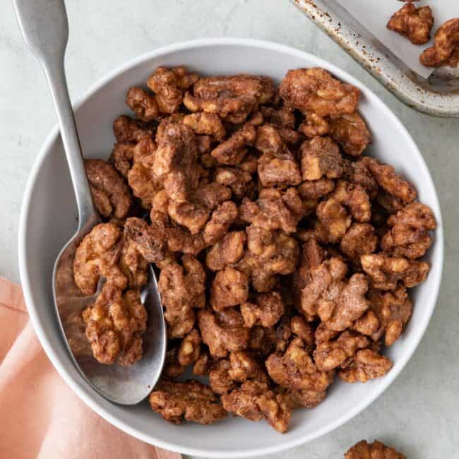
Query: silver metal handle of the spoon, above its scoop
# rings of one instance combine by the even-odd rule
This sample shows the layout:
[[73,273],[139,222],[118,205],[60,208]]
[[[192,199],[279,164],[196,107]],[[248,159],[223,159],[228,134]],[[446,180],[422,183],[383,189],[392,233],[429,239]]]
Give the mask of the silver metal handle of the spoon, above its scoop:
[[78,207],[78,230],[99,220],[86,177],[80,140],[68,95],[64,56],[68,21],[64,0],[13,0],[20,30],[42,64],[56,109]]

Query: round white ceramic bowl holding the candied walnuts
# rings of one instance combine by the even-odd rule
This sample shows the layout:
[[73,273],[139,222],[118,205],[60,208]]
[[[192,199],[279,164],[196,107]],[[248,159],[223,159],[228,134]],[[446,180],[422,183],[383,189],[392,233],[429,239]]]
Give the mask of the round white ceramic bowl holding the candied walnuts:
[[[359,106],[373,133],[369,153],[394,165],[434,210],[439,227],[427,255],[431,271],[414,292],[415,309],[407,330],[386,354],[394,366],[387,376],[366,384],[337,381],[314,410],[296,410],[287,434],[266,422],[228,417],[210,426],[163,421],[143,403],[114,405],[83,381],[68,356],[52,303],[51,273],[56,255],[76,229],[76,205],[57,129],[49,135],[30,174],[20,215],[20,277],[30,318],[40,342],[62,378],[100,416],[128,434],[181,453],[220,458],[274,453],[326,434],[357,415],[380,395],[403,369],[427,328],[439,292],[443,265],[443,229],[439,201],[429,170],[415,142],[395,115],[362,83],[316,56],[256,40],[198,40],[157,49],[129,61],[99,81],[76,104],[76,120],[87,157],[107,158],[114,142],[112,121],[129,113],[124,94],[144,84],[157,66],[184,64],[209,75],[258,73],[279,82],[290,68],[321,66],[362,90]],[[403,407],[400,407],[403,410]]]

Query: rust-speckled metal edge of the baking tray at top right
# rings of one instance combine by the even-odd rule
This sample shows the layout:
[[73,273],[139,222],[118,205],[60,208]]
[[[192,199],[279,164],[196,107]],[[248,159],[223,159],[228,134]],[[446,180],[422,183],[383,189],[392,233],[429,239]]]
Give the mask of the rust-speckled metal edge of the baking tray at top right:
[[402,102],[437,117],[459,117],[459,66],[422,78],[334,0],[290,0]]

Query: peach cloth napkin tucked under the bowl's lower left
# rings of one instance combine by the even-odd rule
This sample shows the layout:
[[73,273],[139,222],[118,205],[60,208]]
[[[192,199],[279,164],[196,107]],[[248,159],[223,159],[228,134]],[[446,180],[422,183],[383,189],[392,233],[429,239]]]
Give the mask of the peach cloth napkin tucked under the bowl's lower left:
[[180,459],[124,434],[57,374],[28,318],[19,285],[0,278],[0,458]]

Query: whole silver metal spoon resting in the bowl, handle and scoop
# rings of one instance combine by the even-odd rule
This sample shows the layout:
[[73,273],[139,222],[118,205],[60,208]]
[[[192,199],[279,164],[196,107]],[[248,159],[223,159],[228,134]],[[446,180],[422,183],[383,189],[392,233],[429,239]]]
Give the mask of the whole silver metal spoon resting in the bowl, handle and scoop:
[[[73,280],[73,256],[81,239],[102,220],[95,210],[85,173],[80,141],[64,70],[68,21],[64,0],[13,0],[25,42],[40,61],[47,77],[61,129],[78,207],[78,230],[61,250],[54,264],[53,293],[61,330],[72,359],[84,378],[105,398],[123,405],[141,402],[160,377],[166,353],[166,329],[153,268],[141,299],[148,312],[143,335],[143,359],[132,366],[98,363],[84,335],[81,311],[95,300],[85,297]],[[102,288],[102,279],[97,292]]]

